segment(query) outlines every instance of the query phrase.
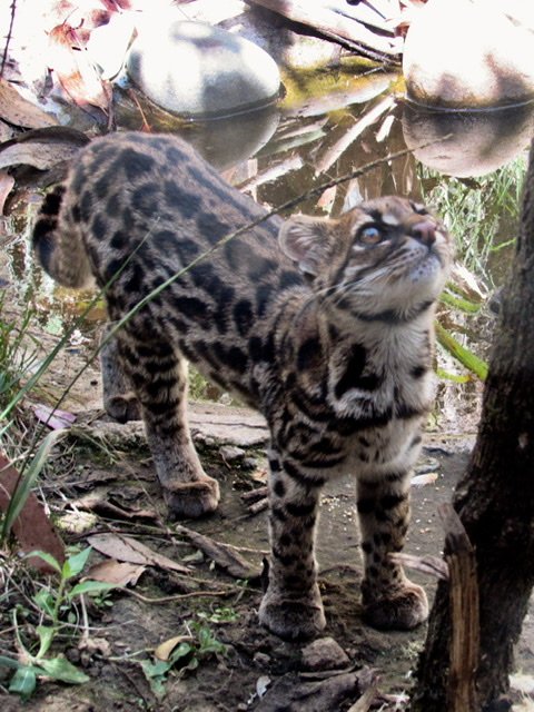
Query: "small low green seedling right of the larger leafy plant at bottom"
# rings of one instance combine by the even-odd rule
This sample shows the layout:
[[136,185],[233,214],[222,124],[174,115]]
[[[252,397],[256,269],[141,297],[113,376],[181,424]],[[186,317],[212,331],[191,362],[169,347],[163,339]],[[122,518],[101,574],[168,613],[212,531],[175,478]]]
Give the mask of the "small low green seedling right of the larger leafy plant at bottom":
[[176,646],[165,660],[154,657],[141,662],[141,669],[154,694],[161,700],[171,671],[186,674],[196,670],[201,661],[214,655],[225,655],[227,646],[217,640],[212,631],[198,621],[186,623],[188,635],[179,636]]

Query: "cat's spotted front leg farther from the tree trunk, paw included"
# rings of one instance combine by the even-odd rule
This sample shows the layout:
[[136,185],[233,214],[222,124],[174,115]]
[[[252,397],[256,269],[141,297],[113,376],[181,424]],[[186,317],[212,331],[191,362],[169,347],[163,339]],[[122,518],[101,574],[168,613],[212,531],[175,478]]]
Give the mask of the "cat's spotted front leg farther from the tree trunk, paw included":
[[325,627],[317,584],[315,526],[323,482],[269,451],[269,582],[259,620],[286,640],[314,637]]

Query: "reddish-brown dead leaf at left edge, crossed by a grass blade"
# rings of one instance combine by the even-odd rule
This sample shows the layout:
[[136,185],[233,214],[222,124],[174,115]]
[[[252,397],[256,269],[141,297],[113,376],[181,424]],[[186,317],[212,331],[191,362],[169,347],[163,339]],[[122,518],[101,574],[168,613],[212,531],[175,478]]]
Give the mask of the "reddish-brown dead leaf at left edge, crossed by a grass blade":
[[[4,455],[0,454],[0,511],[8,511],[19,479],[17,469],[9,464]],[[22,552],[39,550],[51,554],[60,564],[65,562],[63,542],[46,515],[44,507],[32,492],[13,523],[13,534]],[[56,573],[55,568],[38,556],[32,556],[28,561],[39,571]]]

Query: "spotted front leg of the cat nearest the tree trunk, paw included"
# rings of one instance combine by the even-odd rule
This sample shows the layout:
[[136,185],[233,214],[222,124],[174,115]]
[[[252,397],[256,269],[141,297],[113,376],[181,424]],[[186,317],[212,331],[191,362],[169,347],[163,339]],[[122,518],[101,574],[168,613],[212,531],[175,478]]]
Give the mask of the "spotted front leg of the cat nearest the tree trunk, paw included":
[[389,557],[403,548],[408,530],[409,473],[359,479],[357,506],[365,562],[364,620],[383,630],[413,629],[428,615],[426,594]]

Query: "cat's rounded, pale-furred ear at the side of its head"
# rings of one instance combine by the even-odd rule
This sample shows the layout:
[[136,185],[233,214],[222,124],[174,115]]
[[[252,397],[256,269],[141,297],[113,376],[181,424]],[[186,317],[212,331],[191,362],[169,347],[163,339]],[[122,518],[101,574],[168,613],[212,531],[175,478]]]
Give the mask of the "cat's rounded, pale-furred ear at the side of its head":
[[281,250],[300,271],[317,277],[328,258],[332,220],[298,215],[286,220],[278,233]]

